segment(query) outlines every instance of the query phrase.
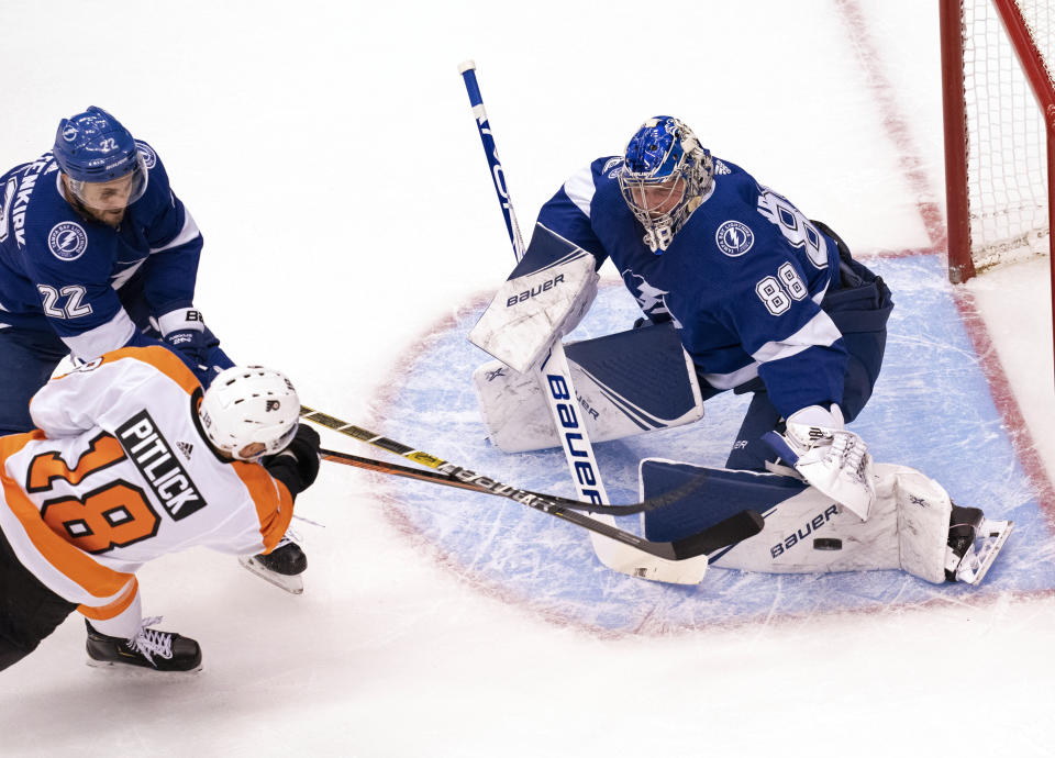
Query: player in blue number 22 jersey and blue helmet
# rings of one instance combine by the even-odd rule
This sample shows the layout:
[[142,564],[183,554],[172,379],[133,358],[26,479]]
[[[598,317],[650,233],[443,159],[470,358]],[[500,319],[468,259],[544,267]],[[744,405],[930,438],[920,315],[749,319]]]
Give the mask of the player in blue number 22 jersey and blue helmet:
[[[100,108],[0,176],[0,435],[33,428],[30,399],[67,355],[162,344],[206,388],[233,366],[193,304],[201,248],[157,153]],[[307,566],[292,542],[258,558]]]

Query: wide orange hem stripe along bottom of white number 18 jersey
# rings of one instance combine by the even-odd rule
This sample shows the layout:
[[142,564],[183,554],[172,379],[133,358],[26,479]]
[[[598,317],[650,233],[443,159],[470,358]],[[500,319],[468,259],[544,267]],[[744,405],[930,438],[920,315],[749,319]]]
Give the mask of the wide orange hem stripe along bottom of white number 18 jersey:
[[[178,360],[178,358],[177,358]],[[40,430],[26,434],[0,437],[0,486],[8,508],[25,530],[33,547],[65,577],[96,598],[111,598],[135,577],[114,571],[96,562],[88,554],[77,549],[44,523],[36,505],[8,476],[4,462],[9,456],[21,450],[31,439],[42,439]]]

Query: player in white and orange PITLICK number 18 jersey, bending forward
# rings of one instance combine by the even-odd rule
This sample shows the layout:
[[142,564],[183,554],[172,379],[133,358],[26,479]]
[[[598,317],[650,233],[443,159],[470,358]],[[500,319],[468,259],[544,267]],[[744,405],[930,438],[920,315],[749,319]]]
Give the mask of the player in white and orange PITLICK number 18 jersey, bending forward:
[[33,398],[36,430],[0,437],[0,669],[74,610],[89,662],[200,667],[198,644],[143,618],[135,571],[203,545],[245,556],[282,539],[319,470],[319,436],[271,369],[202,392],[160,346],[104,354]]

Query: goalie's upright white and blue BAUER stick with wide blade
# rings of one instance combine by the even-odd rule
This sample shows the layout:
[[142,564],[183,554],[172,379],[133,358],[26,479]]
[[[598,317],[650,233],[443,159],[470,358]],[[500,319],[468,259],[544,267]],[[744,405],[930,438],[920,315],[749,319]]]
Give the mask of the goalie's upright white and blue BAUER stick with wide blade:
[[[495,191],[502,208],[502,215],[506,218],[506,230],[509,232],[509,241],[513,245],[513,255],[520,261],[524,254],[524,243],[520,236],[520,224],[517,223],[513,203],[506,187],[506,175],[501,164],[498,163],[495,136],[491,134],[487,111],[484,109],[484,98],[476,82],[476,64],[466,60],[458,66],[458,73],[462,74],[465,89],[469,96],[469,104],[473,105],[473,114],[476,116],[477,129],[484,143],[484,153],[491,169]],[[604,483],[601,480],[600,468],[597,465],[597,457],[593,455],[593,446],[590,444],[585,420],[580,420],[578,395],[571,383],[571,370],[568,367],[568,360],[564,354],[564,344],[560,342],[559,335],[551,346],[548,357],[537,369],[536,377],[553,415],[554,428],[560,439],[564,457],[567,460],[568,470],[579,493],[579,499],[598,504],[607,503],[608,494],[604,491]],[[615,522],[611,516],[601,515],[599,520],[614,528]],[[620,545],[602,539],[598,537],[598,534],[595,532],[590,535],[593,553],[597,554],[598,560],[612,570],[641,579],[685,584],[698,583],[707,572],[707,558],[700,558],[699,561],[693,564],[696,573],[691,575],[686,565],[665,565],[662,560],[656,559],[644,564],[638,555],[628,554]],[[673,578],[675,576],[678,578]]]

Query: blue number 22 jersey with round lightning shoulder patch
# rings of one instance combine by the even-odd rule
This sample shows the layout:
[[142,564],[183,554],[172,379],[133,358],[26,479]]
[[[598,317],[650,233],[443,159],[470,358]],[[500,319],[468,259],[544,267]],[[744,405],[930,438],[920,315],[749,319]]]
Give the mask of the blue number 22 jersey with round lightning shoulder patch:
[[0,177],[0,328],[52,330],[80,358],[145,345],[118,290],[142,282],[152,316],[193,301],[202,239],[157,154],[142,198],[114,228],[77,213],[51,153]]

